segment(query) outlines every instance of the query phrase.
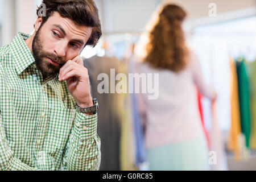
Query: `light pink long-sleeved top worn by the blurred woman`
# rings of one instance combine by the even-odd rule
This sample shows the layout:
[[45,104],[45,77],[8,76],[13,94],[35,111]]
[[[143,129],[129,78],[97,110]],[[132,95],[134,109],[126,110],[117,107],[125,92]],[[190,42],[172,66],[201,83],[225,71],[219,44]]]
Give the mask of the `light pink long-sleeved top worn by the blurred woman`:
[[159,73],[159,98],[148,100],[148,94],[137,97],[147,148],[204,136],[196,87],[208,98],[213,98],[214,92],[205,85],[195,53],[191,53],[187,68],[180,73],[153,69],[147,64],[138,64],[136,70]]

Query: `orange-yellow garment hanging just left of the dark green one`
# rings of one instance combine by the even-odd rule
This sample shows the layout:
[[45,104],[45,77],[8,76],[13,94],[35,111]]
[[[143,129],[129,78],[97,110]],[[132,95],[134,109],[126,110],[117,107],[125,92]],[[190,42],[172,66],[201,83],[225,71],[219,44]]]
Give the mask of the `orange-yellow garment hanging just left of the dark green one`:
[[230,113],[231,129],[229,135],[228,149],[234,151],[235,159],[240,160],[239,136],[241,135],[240,104],[238,96],[237,69],[234,60],[230,59]]

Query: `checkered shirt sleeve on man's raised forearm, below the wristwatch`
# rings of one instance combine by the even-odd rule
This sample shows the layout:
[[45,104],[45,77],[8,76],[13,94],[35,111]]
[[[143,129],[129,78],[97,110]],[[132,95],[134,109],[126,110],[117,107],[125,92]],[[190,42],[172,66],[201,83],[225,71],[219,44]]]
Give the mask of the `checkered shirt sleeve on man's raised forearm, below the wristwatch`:
[[76,111],[75,125],[64,151],[63,169],[98,171],[101,161],[101,140],[97,135],[97,114]]

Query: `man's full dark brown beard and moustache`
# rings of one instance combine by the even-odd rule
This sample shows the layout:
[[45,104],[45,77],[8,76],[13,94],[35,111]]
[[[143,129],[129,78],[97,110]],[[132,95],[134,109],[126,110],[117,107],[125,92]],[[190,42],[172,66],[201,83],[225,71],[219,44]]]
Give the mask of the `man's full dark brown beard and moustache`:
[[[42,26],[41,26],[42,27]],[[35,37],[32,42],[32,53],[35,59],[36,67],[42,73],[43,78],[50,76],[56,76],[59,73],[60,68],[65,64],[65,61],[60,57],[57,57],[55,54],[47,53],[43,49],[43,41],[40,36],[40,30],[36,32]],[[49,63],[47,57],[51,60],[54,60],[56,63],[59,63],[58,66]]]

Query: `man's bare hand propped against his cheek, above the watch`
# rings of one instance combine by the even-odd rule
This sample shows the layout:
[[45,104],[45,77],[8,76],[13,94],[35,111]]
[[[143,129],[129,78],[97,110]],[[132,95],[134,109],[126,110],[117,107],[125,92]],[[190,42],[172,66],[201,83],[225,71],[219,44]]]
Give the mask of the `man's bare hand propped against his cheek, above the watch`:
[[60,69],[59,81],[65,80],[67,81],[68,91],[75,98],[78,106],[93,106],[88,69],[84,67],[80,55],[67,61]]

